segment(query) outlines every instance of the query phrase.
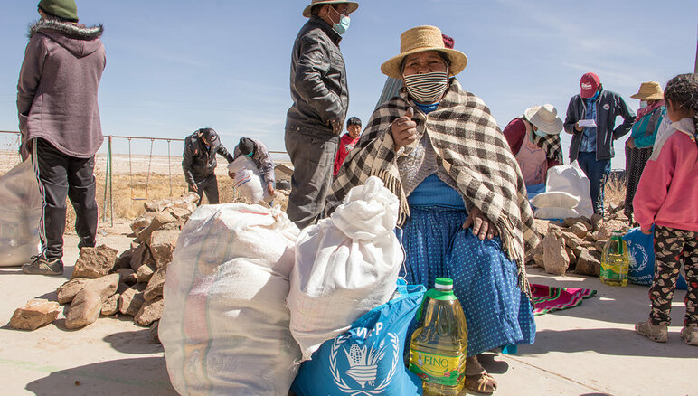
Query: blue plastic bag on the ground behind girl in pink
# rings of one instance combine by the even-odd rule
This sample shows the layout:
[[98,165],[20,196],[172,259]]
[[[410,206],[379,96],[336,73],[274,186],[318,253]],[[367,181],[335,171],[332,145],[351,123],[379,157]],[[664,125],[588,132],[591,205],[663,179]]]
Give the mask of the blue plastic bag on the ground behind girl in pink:
[[[646,235],[639,227],[627,231],[623,240],[627,242],[627,251],[630,253],[630,268],[627,270],[627,279],[636,285],[651,286],[655,278],[655,226]],[[679,275],[676,288],[686,289],[686,280]]]

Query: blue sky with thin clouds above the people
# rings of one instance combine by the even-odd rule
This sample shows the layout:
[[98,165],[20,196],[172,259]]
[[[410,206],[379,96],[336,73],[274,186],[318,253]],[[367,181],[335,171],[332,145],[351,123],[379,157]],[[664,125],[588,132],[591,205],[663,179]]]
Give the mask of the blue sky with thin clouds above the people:
[[[105,26],[107,70],[99,90],[104,133],[182,138],[213,127],[229,148],[240,137],[258,137],[271,150],[284,150],[290,52],[309,2],[78,0],[81,23]],[[17,130],[17,76],[27,26],[38,14],[33,2],[4,3],[0,130]],[[400,34],[420,24],[438,26],[467,54],[467,68],[457,77],[485,100],[502,127],[542,103],[552,103],[564,119],[586,71],[597,72],[606,89],[637,109],[629,96],[640,82],[664,85],[675,74],[693,71],[695,61],[694,0],[360,4],[341,48],[349,116],[364,123],[385,80],[382,62],[399,52]],[[564,133],[562,141],[567,159],[570,139]],[[624,167],[621,145],[614,168]]]

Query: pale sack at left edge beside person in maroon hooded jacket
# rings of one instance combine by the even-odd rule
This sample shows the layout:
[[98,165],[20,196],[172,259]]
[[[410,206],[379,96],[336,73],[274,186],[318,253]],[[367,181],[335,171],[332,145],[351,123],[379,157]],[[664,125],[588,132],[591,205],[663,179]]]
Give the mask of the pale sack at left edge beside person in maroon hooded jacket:
[[0,267],[19,266],[39,252],[42,195],[31,159],[0,177]]

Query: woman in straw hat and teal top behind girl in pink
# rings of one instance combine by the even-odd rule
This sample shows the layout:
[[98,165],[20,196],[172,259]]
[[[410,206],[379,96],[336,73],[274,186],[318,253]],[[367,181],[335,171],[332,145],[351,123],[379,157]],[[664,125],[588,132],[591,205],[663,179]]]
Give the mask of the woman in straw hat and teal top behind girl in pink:
[[625,212],[629,222],[633,223],[633,198],[640,183],[640,176],[652,155],[657,130],[666,115],[664,90],[656,81],[640,84],[640,89],[632,99],[640,100],[637,118],[626,141],[626,204]]

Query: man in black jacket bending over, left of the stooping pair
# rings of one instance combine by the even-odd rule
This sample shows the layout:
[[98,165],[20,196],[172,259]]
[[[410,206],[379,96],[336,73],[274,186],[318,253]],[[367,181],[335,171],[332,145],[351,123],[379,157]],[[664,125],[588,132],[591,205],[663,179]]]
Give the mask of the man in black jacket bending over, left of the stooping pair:
[[184,139],[184,179],[189,184],[189,191],[202,197],[199,204],[204,193],[209,203],[219,203],[218,180],[215,175],[216,154],[225,157],[229,164],[232,162],[231,154],[221,144],[216,131],[210,127],[203,127]]

